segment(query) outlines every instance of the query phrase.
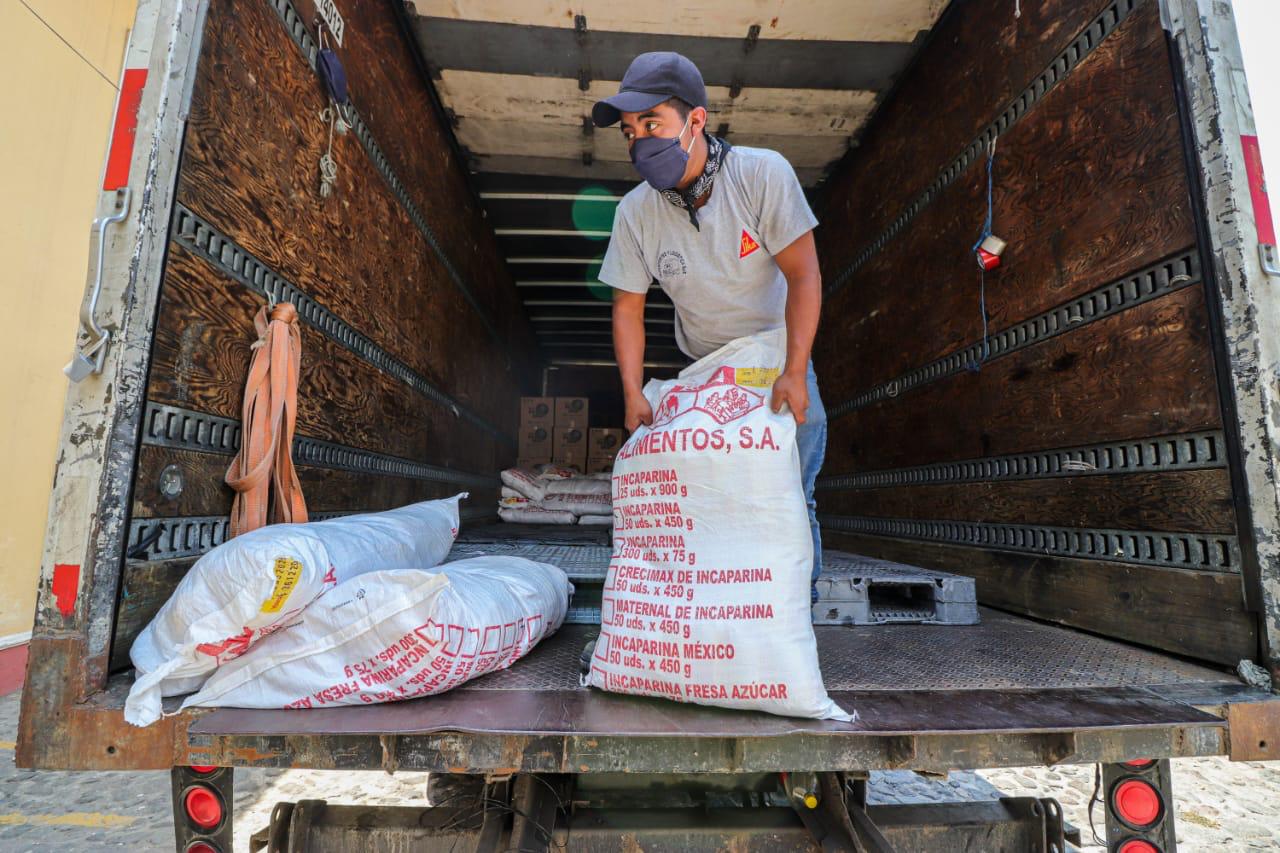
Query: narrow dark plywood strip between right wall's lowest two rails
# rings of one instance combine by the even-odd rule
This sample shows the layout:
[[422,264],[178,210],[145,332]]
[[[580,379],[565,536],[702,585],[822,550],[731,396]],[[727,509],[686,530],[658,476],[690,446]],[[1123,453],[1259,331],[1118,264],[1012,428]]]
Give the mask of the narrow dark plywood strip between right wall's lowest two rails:
[[888,519],[1235,533],[1226,469],[824,489],[818,492],[818,506],[835,515]]

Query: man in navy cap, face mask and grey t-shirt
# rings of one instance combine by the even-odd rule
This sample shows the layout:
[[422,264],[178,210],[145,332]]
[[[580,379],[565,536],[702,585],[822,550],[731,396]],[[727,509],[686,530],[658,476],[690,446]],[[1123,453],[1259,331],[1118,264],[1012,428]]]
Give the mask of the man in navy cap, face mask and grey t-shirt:
[[732,147],[707,132],[703,76],[680,54],[636,56],[618,93],[598,101],[591,118],[596,127],[621,123],[645,179],[618,204],[600,269],[600,280],[614,288],[626,428],[653,421],[641,393],[652,280],[671,296],[676,343],[692,359],[786,325],[786,366],[773,383],[772,406],[790,406],[796,419],[817,580],[822,538],[813,487],[827,450],[827,414],[809,353],[822,279],[813,242],[818,220],[795,170],[777,151]]

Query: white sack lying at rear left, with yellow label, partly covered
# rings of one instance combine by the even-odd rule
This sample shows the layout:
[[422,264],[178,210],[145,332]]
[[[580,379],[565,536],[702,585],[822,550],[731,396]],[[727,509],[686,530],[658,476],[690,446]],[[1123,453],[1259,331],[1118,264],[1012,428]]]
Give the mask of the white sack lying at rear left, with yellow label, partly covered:
[[150,725],[160,698],[200,688],[210,672],[287,628],[321,592],[375,569],[429,569],[453,547],[458,502],[424,501],[387,512],[273,524],[205,556],[138,634],[138,678],[124,719]]

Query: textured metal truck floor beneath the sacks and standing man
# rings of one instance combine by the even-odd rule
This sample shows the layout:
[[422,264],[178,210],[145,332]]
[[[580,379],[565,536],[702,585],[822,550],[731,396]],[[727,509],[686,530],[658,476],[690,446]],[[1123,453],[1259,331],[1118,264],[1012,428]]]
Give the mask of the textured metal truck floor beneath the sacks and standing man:
[[[480,525],[463,530],[451,557],[508,553],[556,562],[581,590],[600,583],[607,543],[599,528]],[[979,625],[817,628],[827,689],[859,713],[858,722],[841,724],[584,688],[579,660],[596,633],[596,625],[566,625],[511,669],[439,697],[305,712],[224,708],[192,731],[759,738],[1215,726],[1221,720],[1176,697],[1238,684],[1166,654],[987,608]]]

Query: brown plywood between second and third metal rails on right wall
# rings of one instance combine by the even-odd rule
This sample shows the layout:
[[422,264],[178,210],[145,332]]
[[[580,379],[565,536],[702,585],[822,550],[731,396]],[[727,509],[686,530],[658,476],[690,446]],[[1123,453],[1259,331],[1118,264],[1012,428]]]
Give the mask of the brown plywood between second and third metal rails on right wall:
[[[837,401],[824,396],[824,402]],[[835,419],[827,470],[872,471],[1220,424],[1204,296],[1188,287],[980,371]]]

